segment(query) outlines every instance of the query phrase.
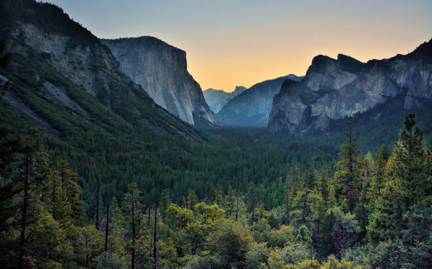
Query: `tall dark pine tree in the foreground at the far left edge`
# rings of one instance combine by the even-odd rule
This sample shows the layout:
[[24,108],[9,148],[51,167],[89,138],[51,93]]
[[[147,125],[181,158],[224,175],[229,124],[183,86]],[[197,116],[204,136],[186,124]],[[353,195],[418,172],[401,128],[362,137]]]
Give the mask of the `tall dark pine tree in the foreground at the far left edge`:
[[[38,256],[36,245],[41,242],[37,242],[37,237],[32,235],[39,232],[38,225],[47,216],[41,197],[47,185],[49,168],[47,153],[43,152],[43,146],[36,142],[37,137],[37,129],[31,128],[25,138],[18,137],[16,140],[3,138],[1,141],[8,146],[2,151],[10,153],[1,156],[2,161],[6,161],[2,164],[3,168],[9,171],[2,170],[2,174],[8,175],[11,179],[9,182],[6,181],[6,184],[3,182],[1,184],[2,192],[10,191],[10,194],[1,194],[2,205],[7,205],[8,209],[16,209],[16,211],[2,209],[2,213],[7,214],[2,227],[10,229],[8,233],[1,233],[2,238],[0,238],[2,243],[8,242],[2,249],[5,255],[0,259],[6,267],[27,268],[33,263],[34,255]],[[12,144],[8,144],[9,142]],[[3,238],[4,235],[8,236]]]

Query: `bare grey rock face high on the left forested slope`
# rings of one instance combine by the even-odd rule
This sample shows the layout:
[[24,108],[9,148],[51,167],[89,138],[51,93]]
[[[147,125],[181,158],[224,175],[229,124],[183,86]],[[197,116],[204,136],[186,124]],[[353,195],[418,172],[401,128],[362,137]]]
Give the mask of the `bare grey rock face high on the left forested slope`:
[[[110,50],[97,42],[97,38],[80,42],[73,34],[49,31],[34,23],[16,21],[8,48],[12,53],[30,55],[33,51],[46,55],[44,62],[75,84],[96,96],[109,92],[109,82],[127,79]],[[93,42],[92,42],[93,41]],[[106,103],[110,100],[106,99]]]

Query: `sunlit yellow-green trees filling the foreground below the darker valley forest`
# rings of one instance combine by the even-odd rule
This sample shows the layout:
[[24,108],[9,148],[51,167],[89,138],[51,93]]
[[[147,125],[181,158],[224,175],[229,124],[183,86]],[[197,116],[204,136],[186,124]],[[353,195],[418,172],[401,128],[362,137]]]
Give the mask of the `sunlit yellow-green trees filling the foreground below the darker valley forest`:
[[[331,154],[322,162],[298,162],[272,159],[263,152],[263,160],[252,166],[269,176],[272,163],[285,162],[286,177],[267,183],[254,183],[251,175],[242,185],[242,179],[231,175],[230,180],[216,181],[211,196],[198,196],[184,186],[187,194],[164,188],[152,200],[133,179],[122,196],[104,194],[108,188],[101,188],[100,175],[94,175],[93,203],[66,160],[49,161],[37,129],[18,135],[2,128],[1,264],[431,268],[432,143],[423,144],[423,132],[410,114],[394,149],[384,145],[374,155],[361,155],[359,135],[351,125],[348,120],[345,142],[334,161]],[[215,131],[211,138],[218,136]],[[253,144],[237,140],[245,142]],[[326,151],[313,142],[298,146],[307,144]],[[251,152],[236,153],[239,149],[226,152],[243,154],[247,167],[254,146]],[[331,146],[328,149],[331,152]]]

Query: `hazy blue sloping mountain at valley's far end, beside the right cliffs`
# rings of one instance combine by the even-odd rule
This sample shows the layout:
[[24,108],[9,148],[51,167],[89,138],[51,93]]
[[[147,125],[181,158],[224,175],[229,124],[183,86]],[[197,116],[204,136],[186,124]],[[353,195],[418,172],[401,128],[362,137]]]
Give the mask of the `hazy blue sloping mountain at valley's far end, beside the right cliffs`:
[[255,84],[228,101],[217,113],[217,117],[224,125],[265,127],[274,94],[279,92],[285,79],[300,80],[301,77],[287,75]]

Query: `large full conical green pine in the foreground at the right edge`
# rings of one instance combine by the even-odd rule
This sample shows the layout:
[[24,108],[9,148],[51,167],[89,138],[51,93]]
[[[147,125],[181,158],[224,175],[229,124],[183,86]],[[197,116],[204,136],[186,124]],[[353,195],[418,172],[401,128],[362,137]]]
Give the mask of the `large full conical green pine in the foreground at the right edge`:
[[[415,115],[409,114],[405,118],[405,130],[400,132],[394,152],[387,161],[388,181],[381,188],[370,214],[368,237],[372,243],[402,237],[405,242],[411,242],[431,231],[430,225],[410,228],[413,223],[432,222],[428,207],[424,207],[432,200],[430,166],[423,149],[422,131],[418,127],[413,129],[415,124]],[[381,184],[376,182],[376,185]]]

